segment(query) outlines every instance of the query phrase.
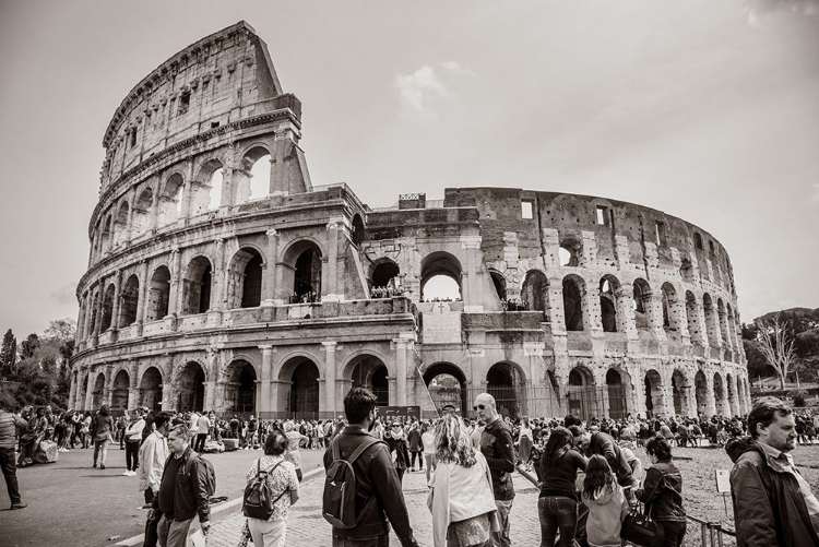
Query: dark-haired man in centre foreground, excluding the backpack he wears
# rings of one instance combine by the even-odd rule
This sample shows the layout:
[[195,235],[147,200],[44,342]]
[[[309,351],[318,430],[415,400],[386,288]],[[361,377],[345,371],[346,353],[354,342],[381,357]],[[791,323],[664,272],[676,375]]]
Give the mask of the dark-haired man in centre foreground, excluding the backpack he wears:
[[[371,442],[378,399],[369,390],[355,388],[344,397],[344,414],[349,425],[335,436],[324,452],[324,468],[333,463],[337,443],[342,460],[349,457],[364,442]],[[399,475],[387,444],[376,441],[353,462],[356,475],[356,525],[333,527],[333,547],[384,547],[390,524],[403,547],[417,547]]]

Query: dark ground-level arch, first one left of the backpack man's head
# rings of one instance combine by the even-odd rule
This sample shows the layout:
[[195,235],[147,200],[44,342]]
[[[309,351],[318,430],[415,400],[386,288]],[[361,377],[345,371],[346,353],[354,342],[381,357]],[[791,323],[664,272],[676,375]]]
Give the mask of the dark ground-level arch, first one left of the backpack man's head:
[[297,354],[283,361],[278,371],[280,385],[285,388],[284,402],[288,417],[314,419],[320,407],[322,370],[312,356]]

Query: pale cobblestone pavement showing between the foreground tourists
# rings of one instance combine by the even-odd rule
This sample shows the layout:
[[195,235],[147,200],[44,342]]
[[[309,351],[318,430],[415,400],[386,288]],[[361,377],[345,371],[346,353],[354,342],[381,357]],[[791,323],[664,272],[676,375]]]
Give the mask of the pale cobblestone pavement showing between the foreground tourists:
[[[331,527],[321,516],[321,491],[324,475],[301,485],[301,497],[290,508],[287,518],[287,546],[330,547]],[[521,547],[541,544],[541,524],[537,519],[537,490],[532,483],[515,473],[517,496],[511,513],[512,544]],[[422,547],[432,547],[432,521],[427,509],[426,475],[404,475],[404,499],[410,511],[410,523]],[[245,518],[238,513],[215,522],[207,538],[209,547],[236,547]],[[250,544],[252,545],[252,543]],[[390,545],[401,546],[395,534],[390,534]]]

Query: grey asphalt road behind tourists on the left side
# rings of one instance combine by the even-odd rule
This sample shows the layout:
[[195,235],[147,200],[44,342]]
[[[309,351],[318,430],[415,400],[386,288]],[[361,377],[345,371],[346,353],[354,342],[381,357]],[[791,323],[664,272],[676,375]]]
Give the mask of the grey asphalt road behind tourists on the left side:
[[[216,471],[216,496],[238,498],[245,474],[261,451],[206,454]],[[301,451],[301,469],[320,466],[321,450]],[[108,451],[105,471],[93,468],[93,451],[60,453],[57,463],[17,469],[28,507],[10,511],[9,492],[0,479],[0,545],[103,547],[144,532],[145,511],[136,477],[123,477],[126,452]],[[116,539],[110,537],[119,536]]]

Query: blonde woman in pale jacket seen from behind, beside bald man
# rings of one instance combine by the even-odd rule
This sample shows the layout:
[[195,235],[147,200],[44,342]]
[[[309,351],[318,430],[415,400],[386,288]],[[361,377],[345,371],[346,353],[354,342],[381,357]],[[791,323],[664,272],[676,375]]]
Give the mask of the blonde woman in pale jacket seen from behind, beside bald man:
[[498,530],[491,475],[459,416],[444,414],[436,425],[435,457],[427,498],[435,547],[484,545]]

